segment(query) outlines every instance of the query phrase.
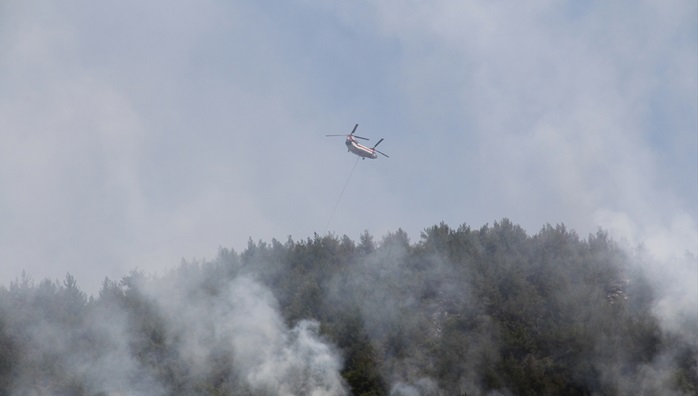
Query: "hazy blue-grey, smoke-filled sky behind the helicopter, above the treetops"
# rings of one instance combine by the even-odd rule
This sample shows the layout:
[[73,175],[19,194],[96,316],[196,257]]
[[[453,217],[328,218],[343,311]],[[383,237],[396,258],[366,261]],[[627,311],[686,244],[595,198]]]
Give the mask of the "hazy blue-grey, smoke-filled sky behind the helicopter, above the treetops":
[[697,254],[695,1],[0,3],[2,285],[502,218]]

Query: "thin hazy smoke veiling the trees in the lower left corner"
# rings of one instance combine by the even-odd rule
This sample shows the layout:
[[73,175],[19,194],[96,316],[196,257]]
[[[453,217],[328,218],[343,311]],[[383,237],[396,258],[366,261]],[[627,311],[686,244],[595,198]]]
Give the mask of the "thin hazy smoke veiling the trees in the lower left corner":
[[[12,321],[10,335],[22,353],[7,391],[10,395],[103,394],[165,395],[165,387],[132,353],[129,320],[117,305],[80,309],[62,305],[61,293],[50,281],[29,293],[15,291],[26,304]],[[96,308],[96,309],[95,309]]]

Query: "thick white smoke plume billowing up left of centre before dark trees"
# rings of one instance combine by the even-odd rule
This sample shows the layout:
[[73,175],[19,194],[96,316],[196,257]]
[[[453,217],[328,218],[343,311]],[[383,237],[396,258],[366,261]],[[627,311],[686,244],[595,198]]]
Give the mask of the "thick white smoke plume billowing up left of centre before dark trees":
[[[182,340],[192,367],[229,353],[236,377],[252,390],[276,395],[344,395],[342,361],[304,320],[289,328],[269,289],[249,276],[235,278],[219,295],[194,294],[201,285],[153,297]],[[194,291],[194,293],[190,293]]]

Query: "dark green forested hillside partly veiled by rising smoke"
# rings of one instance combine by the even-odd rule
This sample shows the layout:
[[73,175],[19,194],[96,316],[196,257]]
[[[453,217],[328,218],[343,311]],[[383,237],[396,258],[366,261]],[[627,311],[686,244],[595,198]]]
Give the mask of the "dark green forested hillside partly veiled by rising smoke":
[[503,219],[250,240],[94,296],[18,274],[0,395],[698,394],[698,315],[663,323],[638,260]]

